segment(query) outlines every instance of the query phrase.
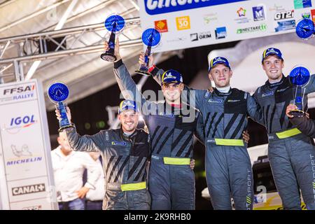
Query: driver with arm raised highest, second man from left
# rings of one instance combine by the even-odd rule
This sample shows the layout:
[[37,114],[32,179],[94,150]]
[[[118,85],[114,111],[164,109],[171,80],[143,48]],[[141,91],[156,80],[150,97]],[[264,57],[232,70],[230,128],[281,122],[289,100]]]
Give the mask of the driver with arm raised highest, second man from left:
[[123,64],[118,41],[115,51],[114,73],[120,90],[126,99],[142,105],[141,114],[151,134],[151,209],[195,209],[195,174],[189,165],[193,157],[193,135],[202,139],[204,134],[200,112],[181,104],[181,74],[165,76],[162,82],[165,102],[149,102]]

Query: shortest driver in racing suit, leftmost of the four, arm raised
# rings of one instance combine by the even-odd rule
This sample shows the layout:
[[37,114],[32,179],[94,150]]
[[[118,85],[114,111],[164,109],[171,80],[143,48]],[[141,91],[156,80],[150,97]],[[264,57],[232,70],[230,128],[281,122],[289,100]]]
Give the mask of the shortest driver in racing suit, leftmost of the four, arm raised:
[[[59,111],[56,110],[60,119]],[[67,116],[71,122],[70,109]],[[135,102],[120,103],[121,128],[102,130],[92,136],[80,136],[76,128],[65,130],[74,151],[100,151],[106,177],[103,209],[148,210],[151,206],[146,183],[146,165],[150,157],[150,137],[138,130],[139,113]]]

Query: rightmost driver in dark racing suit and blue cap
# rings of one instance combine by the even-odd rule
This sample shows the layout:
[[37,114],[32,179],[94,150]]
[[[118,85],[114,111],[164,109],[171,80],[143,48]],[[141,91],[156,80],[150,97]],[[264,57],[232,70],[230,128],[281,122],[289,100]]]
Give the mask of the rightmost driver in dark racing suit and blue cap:
[[[283,208],[301,209],[301,189],[307,209],[315,209],[311,162],[311,157],[315,155],[313,140],[302,134],[286,116],[286,107],[293,103],[295,87],[283,75],[283,66],[279,49],[268,48],[263,52],[262,68],[268,80],[258,87],[253,97],[262,108],[269,139],[268,157]],[[307,111],[307,94],[314,91],[313,75],[305,87],[304,111]]]

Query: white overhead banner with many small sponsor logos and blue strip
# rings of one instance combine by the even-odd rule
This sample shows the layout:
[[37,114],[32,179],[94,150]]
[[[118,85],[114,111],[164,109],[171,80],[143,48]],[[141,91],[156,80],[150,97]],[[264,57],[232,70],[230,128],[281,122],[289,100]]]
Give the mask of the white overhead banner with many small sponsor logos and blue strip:
[[[141,27],[162,33],[153,52],[192,48],[295,31],[302,15],[315,21],[315,0],[138,0]],[[200,38],[200,34],[207,38]],[[208,35],[211,34],[211,35]],[[245,35],[246,34],[246,35]]]

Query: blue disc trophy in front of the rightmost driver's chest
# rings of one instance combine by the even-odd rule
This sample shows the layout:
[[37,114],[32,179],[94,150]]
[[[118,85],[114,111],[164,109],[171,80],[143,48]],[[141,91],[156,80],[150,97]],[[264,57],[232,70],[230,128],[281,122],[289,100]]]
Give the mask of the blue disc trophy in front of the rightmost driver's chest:
[[304,109],[304,92],[305,88],[303,88],[307,83],[309,83],[310,73],[309,70],[303,66],[295,66],[290,72],[290,82],[295,85],[295,97],[294,104],[297,106],[296,110],[290,111],[289,114],[293,117],[302,117],[305,116]]

